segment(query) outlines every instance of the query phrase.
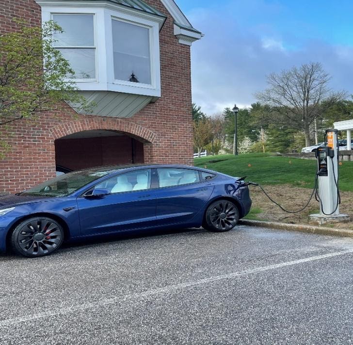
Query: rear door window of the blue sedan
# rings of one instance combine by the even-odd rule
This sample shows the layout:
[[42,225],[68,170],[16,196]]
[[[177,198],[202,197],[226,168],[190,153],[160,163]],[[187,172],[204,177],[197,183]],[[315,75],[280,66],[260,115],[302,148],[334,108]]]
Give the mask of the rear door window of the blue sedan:
[[192,169],[157,169],[160,187],[180,186],[183,184],[200,182],[200,176],[197,170]]

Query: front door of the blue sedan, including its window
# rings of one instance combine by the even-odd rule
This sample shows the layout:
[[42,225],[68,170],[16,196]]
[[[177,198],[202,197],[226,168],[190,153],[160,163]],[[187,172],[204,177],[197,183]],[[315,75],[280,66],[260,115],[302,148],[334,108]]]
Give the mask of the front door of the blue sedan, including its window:
[[138,229],[156,225],[156,193],[151,169],[115,176],[95,188],[111,194],[77,198],[82,235]]

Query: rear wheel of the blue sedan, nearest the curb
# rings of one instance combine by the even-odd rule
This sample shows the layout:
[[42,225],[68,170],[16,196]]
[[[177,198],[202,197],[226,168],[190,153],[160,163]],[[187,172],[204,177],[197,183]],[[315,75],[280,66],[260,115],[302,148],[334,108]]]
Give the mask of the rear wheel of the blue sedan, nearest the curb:
[[233,229],[239,220],[237,206],[229,200],[217,200],[206,210],[203,227],[209,231],[225,232]]

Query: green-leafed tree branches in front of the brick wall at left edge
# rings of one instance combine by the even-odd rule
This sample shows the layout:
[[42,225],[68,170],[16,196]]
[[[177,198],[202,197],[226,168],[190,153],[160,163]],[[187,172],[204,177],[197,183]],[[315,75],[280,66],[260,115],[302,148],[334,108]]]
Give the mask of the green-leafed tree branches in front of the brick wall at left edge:
[[89,108],[75,92],[75,82],[65,79],[75,72],[53,47],[54,35],[63,32],[60,26],[53,21],[42,27],[17,25],[18,31],[0,36],[0,126],[70,107],[64,101]]

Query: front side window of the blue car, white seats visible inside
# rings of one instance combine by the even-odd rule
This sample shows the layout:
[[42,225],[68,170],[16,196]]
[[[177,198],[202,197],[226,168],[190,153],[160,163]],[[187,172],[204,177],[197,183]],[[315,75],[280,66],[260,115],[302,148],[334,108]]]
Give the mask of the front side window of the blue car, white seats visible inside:
[[95,186],[95,189],[108,189],[113,193],[142,191],[151,188],[151,169],[137,170],[114,176]]

